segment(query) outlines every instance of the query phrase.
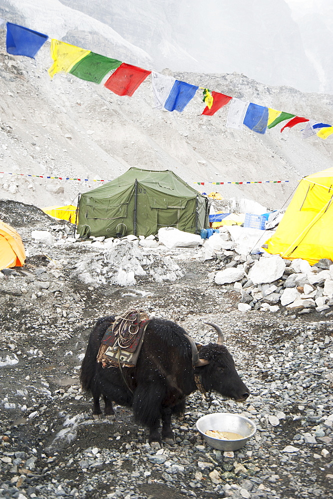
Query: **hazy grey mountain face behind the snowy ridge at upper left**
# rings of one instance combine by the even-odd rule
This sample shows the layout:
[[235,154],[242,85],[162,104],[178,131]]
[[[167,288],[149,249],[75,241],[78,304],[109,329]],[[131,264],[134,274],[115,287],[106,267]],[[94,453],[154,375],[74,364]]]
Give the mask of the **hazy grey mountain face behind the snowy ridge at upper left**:
[[293,0],[59,1],[74,17],[84,12],[111,26],[149,53],[158,70],[237,71],[270,85],[333,92],[327,1],[303,9],[302,0],[299,15]]

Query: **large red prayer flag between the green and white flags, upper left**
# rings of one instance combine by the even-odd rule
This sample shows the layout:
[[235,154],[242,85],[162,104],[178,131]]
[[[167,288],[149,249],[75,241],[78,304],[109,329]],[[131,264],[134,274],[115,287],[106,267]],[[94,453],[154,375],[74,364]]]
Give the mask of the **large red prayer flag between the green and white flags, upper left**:
[[146,71],[141,67],[131,66],[123,62],[110,78],[104,83],[104,86],[117,95],[128,95],[131,97],[138,86],[147,78],[151,71]]

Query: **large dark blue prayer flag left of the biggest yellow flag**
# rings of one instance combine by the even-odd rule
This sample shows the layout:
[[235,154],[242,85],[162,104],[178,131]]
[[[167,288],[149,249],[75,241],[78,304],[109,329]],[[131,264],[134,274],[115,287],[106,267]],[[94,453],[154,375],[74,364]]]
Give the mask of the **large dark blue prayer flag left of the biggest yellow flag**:
[[47,38],[47,34],[7,22],[6,50],[8,54],[25,55],[34,59]]

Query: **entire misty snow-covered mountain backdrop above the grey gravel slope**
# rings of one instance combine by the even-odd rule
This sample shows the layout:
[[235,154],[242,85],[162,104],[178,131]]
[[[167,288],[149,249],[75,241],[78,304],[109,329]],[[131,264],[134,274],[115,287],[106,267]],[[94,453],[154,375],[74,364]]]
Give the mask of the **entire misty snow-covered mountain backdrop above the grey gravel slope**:
[[148,69],[237,71],[333,92],[333,6],[324,0],[0,0],[0,15]]

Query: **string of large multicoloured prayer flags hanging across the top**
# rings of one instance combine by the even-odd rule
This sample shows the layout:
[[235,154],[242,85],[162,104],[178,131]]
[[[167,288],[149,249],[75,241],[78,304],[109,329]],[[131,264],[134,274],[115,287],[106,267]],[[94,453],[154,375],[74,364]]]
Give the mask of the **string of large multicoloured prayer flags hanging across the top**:
[[[9,54],[34,58],[47,39],[46,34],[11,22],[6,23],[6,50]],[[203,90],[202,100],[206,105],[203,115],[212,116],[230,103],[227,127],[242,130],[245,125],[254,132],[265,134],[267,129],[287,121],[281,132],[301,124],[302,138],[317,135],[327,139],[333,134],[333,126],[321,120],[305,118],[296,113],[279,111],[221,92],[210,91],[206,86],[192,85],[61,40],[51,39],[50,51],[53,64],[48,73],[51,78],[58,72],[64,72],[100,84],[104,77],[113,71],[104,86],[120,96],[131,97],[147,76],[151,75],[155,109],[182,112],[200,89]]]

